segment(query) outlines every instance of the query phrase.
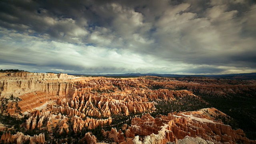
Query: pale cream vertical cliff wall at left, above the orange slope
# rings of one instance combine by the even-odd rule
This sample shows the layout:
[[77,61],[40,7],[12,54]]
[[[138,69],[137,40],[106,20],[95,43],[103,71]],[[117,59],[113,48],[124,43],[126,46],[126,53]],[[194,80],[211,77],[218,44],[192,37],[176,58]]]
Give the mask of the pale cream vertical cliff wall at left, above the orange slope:
[[76,77],[67,74],[52,74],[52,73],[10,73],[8,76],[0,76],[1,96],[20,96],[28,92],[42,91],[49,95],[71,95],[72,85],[69,85],[70,80]]

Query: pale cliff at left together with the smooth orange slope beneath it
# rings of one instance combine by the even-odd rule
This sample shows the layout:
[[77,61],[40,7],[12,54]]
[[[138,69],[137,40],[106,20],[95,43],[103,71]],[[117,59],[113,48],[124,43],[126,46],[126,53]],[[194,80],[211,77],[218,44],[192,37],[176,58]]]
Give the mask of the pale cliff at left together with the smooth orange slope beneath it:
[[[76,77],[67,74],[1,73],[0,94],[1,98],[20,98],[18,106],[21,111],[30,112],[35,108],[42,109],[57,98],[72,98],[75,90],[70,83],[72,80],[76,80]],[[13,110],[7,111],[10,114],[18,113]]]

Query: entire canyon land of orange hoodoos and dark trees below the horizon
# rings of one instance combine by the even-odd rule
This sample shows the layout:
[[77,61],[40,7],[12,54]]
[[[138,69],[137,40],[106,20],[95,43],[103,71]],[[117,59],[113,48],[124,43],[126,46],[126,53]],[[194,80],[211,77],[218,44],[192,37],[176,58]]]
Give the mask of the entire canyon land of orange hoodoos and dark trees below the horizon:
[[0,73],[1,143],[256,144],[256,80]]

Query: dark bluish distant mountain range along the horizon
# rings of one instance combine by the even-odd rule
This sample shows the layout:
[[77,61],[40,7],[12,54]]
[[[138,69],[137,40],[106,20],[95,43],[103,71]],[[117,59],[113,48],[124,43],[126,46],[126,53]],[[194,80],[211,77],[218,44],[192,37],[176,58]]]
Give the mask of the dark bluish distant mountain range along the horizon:
[[138,77],[138,76],[160,76],[160,77],[216,77],[229,79],[256,79],[256,72],[244,74],[206,74],[206,75],[182,75],[182,74],[155,74],[155,73],[127,73],[127,74],[69,74],[74,76],[105,76],[105,77]]

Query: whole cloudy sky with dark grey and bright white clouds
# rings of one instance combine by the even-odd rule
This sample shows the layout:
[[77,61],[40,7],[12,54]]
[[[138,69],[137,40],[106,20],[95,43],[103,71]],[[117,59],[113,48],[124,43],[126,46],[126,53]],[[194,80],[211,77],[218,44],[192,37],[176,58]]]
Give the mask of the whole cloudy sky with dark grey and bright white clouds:
[[0,0],[0,69],[256,72],[256,1]]

